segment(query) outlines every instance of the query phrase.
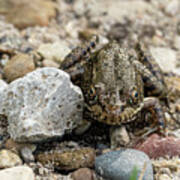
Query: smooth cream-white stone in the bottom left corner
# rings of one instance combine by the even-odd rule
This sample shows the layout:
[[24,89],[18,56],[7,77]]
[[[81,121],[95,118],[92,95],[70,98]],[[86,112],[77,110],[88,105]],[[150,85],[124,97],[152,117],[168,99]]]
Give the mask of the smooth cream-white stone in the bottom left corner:
[[18,166],[0,171],[1,180],[34,180],[34,173],[31,168]]

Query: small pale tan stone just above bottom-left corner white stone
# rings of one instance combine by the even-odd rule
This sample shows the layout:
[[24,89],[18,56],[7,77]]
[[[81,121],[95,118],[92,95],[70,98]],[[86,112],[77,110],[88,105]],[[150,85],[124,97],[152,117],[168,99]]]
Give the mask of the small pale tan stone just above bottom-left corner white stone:
[[21,164],[22,160],[17,154],[5,149],[0,151],[0,168],[9,168]]

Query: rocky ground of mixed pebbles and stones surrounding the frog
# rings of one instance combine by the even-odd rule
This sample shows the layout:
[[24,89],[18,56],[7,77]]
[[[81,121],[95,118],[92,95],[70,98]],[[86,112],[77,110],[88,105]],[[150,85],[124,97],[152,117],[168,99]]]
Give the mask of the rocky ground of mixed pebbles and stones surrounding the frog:
[[[0,179],[180,179],[179,11],[179,0],[0,0]],[[74,132],[83,94],[58,68],[93,34],[132,51],[140,41],[160,65],[165,137],[132,145],[125,127],[109,136],[100,123]]]

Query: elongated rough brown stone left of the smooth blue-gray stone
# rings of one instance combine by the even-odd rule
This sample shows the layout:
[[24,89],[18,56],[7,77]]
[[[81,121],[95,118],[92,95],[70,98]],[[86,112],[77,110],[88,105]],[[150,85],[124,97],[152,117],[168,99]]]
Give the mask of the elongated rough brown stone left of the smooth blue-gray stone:
[[85,167],[93,167],[95,150],[92,148],[67,149],[65,151],[42,152],[36,155],[36,159],[43,165],[51,164],[59,170],[74,170]]

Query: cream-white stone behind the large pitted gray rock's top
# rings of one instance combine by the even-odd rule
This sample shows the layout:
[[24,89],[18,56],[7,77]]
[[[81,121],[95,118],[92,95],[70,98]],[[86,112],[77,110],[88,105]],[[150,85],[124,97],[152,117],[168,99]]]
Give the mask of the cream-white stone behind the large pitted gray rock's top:
[[61,62],[71,52],[71,49],[68,48],[65,42],[55,42],[53,44],[42,44],[38,52],[46,59]]

